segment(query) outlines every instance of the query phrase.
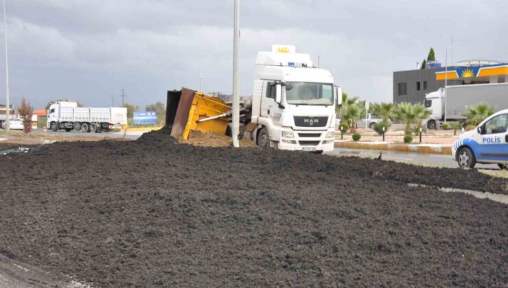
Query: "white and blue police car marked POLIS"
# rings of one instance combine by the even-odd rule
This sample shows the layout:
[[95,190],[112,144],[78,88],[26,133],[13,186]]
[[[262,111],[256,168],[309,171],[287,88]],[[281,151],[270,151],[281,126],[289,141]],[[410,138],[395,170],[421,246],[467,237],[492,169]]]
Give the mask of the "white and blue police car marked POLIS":
[[459,167],[494,163],[508,169],[508,109],[487,117],[475,130],[461,134],[452,146]]

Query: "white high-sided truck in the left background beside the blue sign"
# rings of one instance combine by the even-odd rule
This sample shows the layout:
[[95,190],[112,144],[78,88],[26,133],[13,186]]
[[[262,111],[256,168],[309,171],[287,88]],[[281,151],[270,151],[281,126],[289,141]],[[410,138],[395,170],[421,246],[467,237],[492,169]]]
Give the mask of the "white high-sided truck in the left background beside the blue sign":
[[58,101],[49,106],[46,127],[52,131],[102,132],[127,127],[127,108],[78,107],[74,101]]

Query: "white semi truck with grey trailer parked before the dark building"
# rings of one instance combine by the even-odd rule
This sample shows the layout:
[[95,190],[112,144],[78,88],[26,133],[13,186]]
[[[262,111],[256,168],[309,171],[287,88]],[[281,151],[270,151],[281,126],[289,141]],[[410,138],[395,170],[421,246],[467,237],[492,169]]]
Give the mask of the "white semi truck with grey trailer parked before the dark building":
[[[485,102],[497,110],[508,108],[508,83],[454,85],[446,88],[446,121],[465,121],[467,106]],[[432,110],[428,129],[441,127],[445,120],[445,89],[428,93],[425,106]]]

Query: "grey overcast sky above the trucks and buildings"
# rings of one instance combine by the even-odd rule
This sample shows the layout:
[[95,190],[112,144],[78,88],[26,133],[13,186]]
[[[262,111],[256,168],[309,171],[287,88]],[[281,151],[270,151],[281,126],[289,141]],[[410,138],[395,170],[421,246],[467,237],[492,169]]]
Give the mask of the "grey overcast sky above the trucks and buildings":
[[[11,101],[52,99],[143,108],[166,91],[232,91],[233,0],[5,0]],[[296,45],[350,95],[391,101],[392,73],[434,47],[445,62],[508,61],[506,0],[242,0],[242,95],[251,95],[257,51]],[[3,36],[3,27],[0,29]],[[1,38],[3,39],[3,37]],[[3,40],[0,51],[3,52]],[[0,103],[5,58],[0,58]]]

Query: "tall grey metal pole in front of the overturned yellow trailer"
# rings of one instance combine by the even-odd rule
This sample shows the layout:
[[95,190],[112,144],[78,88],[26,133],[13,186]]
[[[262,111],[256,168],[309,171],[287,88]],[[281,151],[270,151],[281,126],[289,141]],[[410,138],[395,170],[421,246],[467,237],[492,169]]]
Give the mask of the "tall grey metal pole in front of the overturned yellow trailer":
[[233,147],[240,147],[238,133],[240,130],[240,79],[238,77],[238,42],[240,41],[240,0],[234,0],[235,15],[233,17]]

